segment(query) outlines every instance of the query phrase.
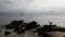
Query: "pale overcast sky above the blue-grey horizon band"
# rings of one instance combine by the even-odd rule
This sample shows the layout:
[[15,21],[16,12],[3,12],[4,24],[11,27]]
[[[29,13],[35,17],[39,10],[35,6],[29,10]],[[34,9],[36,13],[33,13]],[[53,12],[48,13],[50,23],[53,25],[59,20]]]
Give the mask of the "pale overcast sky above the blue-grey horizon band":
[[0,12],[65,13],[65,0],[0,0]]

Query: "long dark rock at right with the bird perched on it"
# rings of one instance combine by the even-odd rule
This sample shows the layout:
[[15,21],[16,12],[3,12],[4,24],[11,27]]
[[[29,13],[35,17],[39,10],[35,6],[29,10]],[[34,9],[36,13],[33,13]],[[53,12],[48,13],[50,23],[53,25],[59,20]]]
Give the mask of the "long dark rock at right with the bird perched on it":
[[47,32],[65,32],[65,28],[56,25],[43,25],[38,29],[38,36],[52,37],[51,35],[48,35]]

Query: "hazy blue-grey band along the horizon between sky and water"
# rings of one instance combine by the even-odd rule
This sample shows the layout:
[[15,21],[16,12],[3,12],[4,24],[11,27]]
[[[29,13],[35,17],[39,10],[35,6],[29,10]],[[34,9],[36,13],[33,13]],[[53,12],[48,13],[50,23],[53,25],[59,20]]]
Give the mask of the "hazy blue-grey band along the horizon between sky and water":
[[0,15],[65,15],[65,13],[4,13],[0,12]]

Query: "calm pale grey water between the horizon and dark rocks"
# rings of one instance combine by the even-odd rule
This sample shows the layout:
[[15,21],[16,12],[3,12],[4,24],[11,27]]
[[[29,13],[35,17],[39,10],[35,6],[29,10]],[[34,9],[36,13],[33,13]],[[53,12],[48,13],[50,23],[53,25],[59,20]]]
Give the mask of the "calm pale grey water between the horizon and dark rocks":
[[49,24],[51,21],[54,24],[65,27],[65,15],[0,15],[0,25],[6,25],[11,21],[24,20],[24,22],[36,21],[41,26],[44,24]]

